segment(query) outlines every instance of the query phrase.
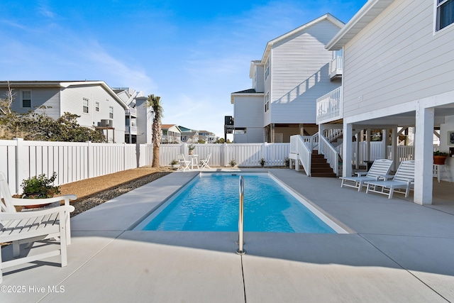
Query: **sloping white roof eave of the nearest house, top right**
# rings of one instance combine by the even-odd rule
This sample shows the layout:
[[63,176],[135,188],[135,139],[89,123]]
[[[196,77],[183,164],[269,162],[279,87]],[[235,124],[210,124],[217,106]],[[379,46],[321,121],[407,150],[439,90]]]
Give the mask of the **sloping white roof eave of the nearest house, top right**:
[[326,45],[327,50],[340,50],[362,28],[377,18],[394,0],[369,0]]

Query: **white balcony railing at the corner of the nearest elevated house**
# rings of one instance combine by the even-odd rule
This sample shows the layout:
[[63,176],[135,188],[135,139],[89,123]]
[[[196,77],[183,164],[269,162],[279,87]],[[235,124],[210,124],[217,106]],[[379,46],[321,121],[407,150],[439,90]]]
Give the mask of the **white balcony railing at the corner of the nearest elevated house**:
[[317,99],[317,124],[342,119],[342,103],[342,87],[338,87]]

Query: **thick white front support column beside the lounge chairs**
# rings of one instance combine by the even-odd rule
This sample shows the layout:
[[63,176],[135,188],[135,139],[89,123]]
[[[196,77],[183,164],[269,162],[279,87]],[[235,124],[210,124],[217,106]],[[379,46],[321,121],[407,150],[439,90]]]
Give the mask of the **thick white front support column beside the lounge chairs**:
[[414,202],[432,204],[434,109],[416,108]]

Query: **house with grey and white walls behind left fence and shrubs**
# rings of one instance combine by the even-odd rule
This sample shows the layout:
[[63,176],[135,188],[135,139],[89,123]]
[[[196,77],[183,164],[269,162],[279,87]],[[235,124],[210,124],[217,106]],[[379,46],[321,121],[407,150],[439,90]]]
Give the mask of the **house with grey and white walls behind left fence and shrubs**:
[[[81,126],[103,131],[109,143],[123,143],[128,106],[104,81],[10,81],[17,113],[45,113],[58,119],[65,112],[79,115]],[[8,82],[0,82],[4,96]]]

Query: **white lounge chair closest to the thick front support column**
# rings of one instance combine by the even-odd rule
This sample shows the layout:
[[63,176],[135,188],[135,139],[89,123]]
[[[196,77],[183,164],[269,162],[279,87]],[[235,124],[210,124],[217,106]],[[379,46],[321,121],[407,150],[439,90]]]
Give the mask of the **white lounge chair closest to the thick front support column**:
[[[414,183],[414,160],[402,161],[397,168],[396,175],[392,180],[377,180],[367,181],[366,194],[369,192],[377,192],[379,194],[387,194],[388,199],[392,198],[392,194],[396,189],[405,189],[405,197],[409,197],[411,185]],[[396,192],[399,192],[396,190]],[[404,193],[404,192],[400,192]]]

